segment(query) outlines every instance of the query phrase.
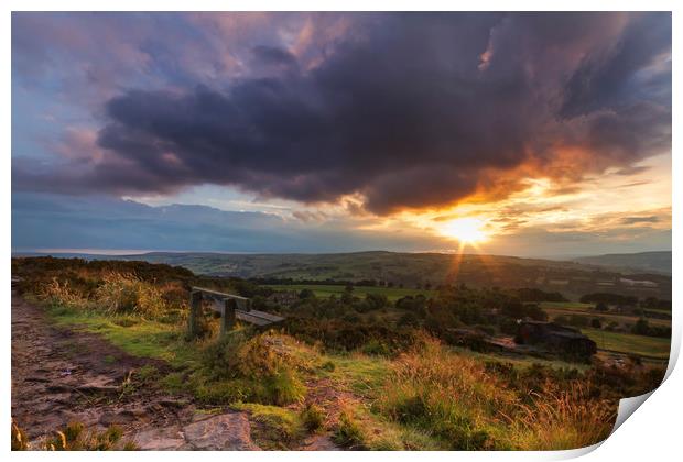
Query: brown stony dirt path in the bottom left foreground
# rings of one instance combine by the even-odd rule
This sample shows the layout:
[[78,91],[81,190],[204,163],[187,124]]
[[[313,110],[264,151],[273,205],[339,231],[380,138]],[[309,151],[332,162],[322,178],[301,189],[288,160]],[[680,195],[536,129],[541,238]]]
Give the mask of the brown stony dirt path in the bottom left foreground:
[[51,326],[12,290],[12,417],[33,449],[69,421],[100,430],[116,424],[140,449],[259,449],[245,413],[200,413],[153,387],[126,393],[145,364],[164,367],[98,336]]

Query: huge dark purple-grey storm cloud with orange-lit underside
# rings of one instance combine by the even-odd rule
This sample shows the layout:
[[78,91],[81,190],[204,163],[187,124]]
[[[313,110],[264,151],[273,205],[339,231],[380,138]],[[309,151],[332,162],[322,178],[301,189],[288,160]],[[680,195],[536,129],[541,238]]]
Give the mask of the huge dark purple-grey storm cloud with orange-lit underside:
[[360,194],[388,213],[505,196],[517,168],[576,180],[670,148],[669,13],[372,18],[314,66],[254,43],[251,74],[225,85],[123,91],[105,106],[99,162],[15,164],[14,185]]

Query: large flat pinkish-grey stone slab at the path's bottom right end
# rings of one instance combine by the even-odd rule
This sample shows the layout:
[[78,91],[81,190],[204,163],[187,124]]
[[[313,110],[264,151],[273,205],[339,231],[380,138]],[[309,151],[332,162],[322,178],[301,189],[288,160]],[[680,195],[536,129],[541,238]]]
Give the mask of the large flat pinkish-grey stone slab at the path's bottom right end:
[[229,413],[189,424],[183,428],[192,449],[203,451],[258,451],[251,441],[251,426],[245,413]]

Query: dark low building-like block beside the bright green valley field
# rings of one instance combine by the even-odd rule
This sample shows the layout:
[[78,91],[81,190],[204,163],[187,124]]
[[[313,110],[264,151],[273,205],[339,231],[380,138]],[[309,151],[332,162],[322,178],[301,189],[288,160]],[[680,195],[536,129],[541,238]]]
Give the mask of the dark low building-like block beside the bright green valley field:
[[522,321],[514,341],[581,358],[588,358],[597,352],[596,343],[581,331],[554,322]]

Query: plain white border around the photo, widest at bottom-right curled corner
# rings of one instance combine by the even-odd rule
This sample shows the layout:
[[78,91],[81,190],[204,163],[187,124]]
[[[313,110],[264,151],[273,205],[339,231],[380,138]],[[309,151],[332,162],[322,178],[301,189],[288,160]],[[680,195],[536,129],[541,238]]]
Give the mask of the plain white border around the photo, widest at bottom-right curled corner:
[[[11,44],[11,15],[10,11],[108,11],[108,10],[130,10],[130,11],[152,11],[152,10],[171,10],[171,11],[253,11],[253,10],[279,10],[279,11],[322,11],[322,10],[335,10],[335,11],[414,11],[414,10],[462,10],[462,11],[508,11],[508,10],[522,10],[522,11],[571,11],[571,10],[629,10],[629,11],[674,11],[673,13],[673,47],[677,48],[680,43],[679,28],[681,26],[680,9],[676,11],[676,2],[674,1],[616,1],[616,0],[603,0],[603,1],[587,1],[587,0],[574,0],[572,2],[543,2],[543,1],[500,1],[489,0],[487,2],[452,2],[443,0],[421,0],[421,1],[359,1],[359,0],[335,0],[326,1],[324,4],[315,1],[302,1],[302,0],[236,0],[236,1],[217,1],[217,0],[194,0],[192,2],[178,1],[178,0],[165,0],[163,2],[143,1],[143,0],[119,0],[119,1],[98,1],[97,3],[88,2],[85,0],[63,0],[59,2],[48,0],[26,0],[15,1],[9,0],[3,3],[4,14],[0,22],[0,35],[2,36],[2,47],[0,53],[2,56],[3,73],[0,77],[2,79],[2,89],[4,98],[2,98],[3,105],[1,109],[2,123],[0,125],[0,140],[4,147],[3,155],[1,157],[2,168],[0,168],[2,175],[2,190],[3,197],[1,201],[2,216],[6,218],[11,217],[11,169],[10,169],[10,153],[11,153],[11,106],[9,103],[11,99],[10,88],[10,44]],[[680,3],[679,3],[680,4]],[[677,61],[673,61],[673,98],[674,98],[674,114],[673,127],[679,127],[675,123],[676,108],[680,108],[680,95],[676,91],[676,78],[681,75],[679,72]],[[679,145],[677,131],[673,133],[673,145]],[[673,157],[673,197],[683,197],[681,182],[681,162]],[[677,208],[673,207],[673,248],[680,245],[680,215]],[[1,229],[4,248],[2,249],[4,255],[4,264],[2,266],[2,279],[4,285],[2,286],[2,300],[3,306],[3,320],[4,329],[2,329],[2,336],[4,338],[4,354],[2,356],[3,367],[0,367],[0,374],[2,376],[2,415],[6,416],[6,425],[9,427],[10,416],[10,339],[11,339],[11,318],[10,318],[10,257],[11,257],[11,229],[9,223]],[[680,430],[677,424],[680,422],[680,413],[683,405],[679,396],[679,392],[683,389],[683,377],[681,373],[672,370],[672,365],[675,363],[681,344],[681,322],[680,322],[680,309],[676,305],[681,300],[681,264],[677,253],[674,252],[673,261],[673,302],[674,302],[674,322],[673,322],[673,341],[672,341],[672,361],[668,371],[669,378],[666,382],[651,395],[648,400],[648,405],[638,410],[638,415],[635,418],[628,419],[610,438],[600,446],[599,450],[590,452],[589,460],[671,460],[672,454],[680,452],[677,442],[680,439]],[[673,372],[672,372],[673,371]],[[2,439],[2,448],[9,451],[9,438]],[[597,446],[596,446],[597,447]],[[589,450],[576,450],[564,452],[498,452],[498,453],[454,453],[454,452],[437,452],[424,454],[431,460],[491,460],[491,459],[505,459],[505,460],[556,460],[567,459],[585,454],[595,448]],[[148,460],[161,460],[164,461],[180,461],[187,457],[185,453],[11,453],[12,458],[17,460],[35,460],[39,458],[55,458],[65,460],[86,460],[86,458],[101,458],[107,460],[119,460],[122,458],[145,458]],[[249,453],[230,453],[224,454],[219,452],[203,453],[202,458],[208,459],[249,459],[251,461],[261,460],[278,460],[284,461],[301,461],[301,460],[326,460],[333,462],[337,460],[346,460],[349,457],[359,458],[365,460],[380,460],[387,457],[384,453],[358,453],[358,452],[338,452],[338,453],[281,453],[281,452],[249,452]],[[397,460],[414,460],[423,457],[422,453],[410,452],[392,452],[392,459]]]

